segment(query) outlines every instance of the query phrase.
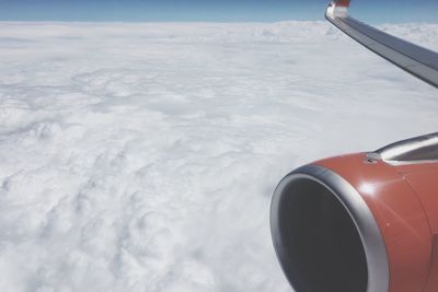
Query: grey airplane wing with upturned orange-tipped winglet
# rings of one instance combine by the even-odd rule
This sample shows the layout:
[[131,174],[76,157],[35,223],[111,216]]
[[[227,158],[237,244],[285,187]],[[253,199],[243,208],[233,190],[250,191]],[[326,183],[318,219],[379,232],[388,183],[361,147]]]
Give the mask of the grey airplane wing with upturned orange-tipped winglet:
[[408,73],[438,87],[438,54],[383,33],[348,15],[350,0],[333,0],[325,17],[345,34]]

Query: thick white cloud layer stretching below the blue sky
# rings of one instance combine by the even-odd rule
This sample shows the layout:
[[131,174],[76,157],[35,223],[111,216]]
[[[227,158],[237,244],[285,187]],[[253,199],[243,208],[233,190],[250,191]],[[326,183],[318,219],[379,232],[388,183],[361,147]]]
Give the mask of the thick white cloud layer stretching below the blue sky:
[[289,291],[281,176],[438,125],[435,89],[322,22],[0,28],[1,291]]

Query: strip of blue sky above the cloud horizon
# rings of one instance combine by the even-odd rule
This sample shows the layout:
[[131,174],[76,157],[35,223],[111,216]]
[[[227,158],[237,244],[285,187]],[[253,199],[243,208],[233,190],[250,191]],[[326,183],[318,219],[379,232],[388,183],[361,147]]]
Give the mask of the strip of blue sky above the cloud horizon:
[[[351,13],[371,23],[438,23],[438,0],[417,3],[356,0]],[[322,20],[327,0],[0,0],[0,21]]]

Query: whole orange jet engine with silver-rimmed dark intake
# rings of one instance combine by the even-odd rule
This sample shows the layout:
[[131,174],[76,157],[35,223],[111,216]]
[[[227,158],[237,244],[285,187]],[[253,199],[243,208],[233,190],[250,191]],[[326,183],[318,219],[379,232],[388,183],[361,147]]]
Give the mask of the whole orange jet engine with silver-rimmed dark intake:
[[297,292],[438,291],[438,133],[293,171],[270,229]]

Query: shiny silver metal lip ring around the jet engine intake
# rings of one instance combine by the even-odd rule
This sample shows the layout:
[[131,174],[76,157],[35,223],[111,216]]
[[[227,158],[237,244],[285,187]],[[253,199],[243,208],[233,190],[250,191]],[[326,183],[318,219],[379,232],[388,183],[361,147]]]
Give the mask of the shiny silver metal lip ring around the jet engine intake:
[[[387,248],[374,217],[361,195],[341,175],[319,165],[306,165],[288,174],[275,189],[270,205],[270,232],[285,275],[284,244],[279,231],[279,202],[285,188],[296,179],[308,178],[327,188],[344,206],[355,223],[364,245],[368,268],[367,292],[388,292],[390,282]],[[290,284],[293,287],[291,279]],[[299,291],[298,291],[299,292]]]

